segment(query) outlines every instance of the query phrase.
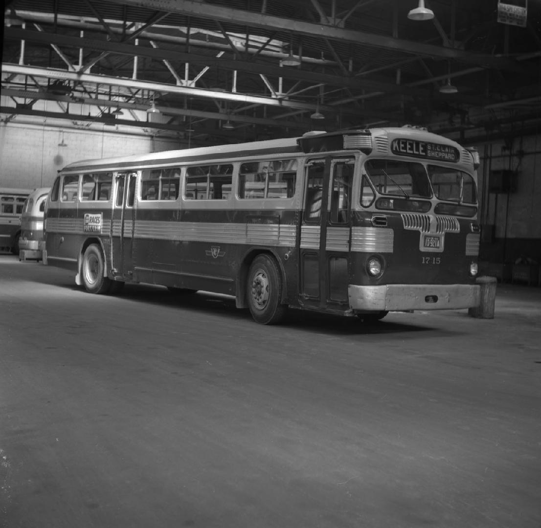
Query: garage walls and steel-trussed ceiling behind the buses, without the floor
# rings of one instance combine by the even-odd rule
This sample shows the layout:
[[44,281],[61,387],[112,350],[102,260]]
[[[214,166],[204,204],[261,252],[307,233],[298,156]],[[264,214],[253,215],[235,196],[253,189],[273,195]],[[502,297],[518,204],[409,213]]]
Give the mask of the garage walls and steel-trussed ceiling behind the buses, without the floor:
[[81,157],[420,126],[479,150],[481,271],[541,262],[539,2],[15,0],[4,18],[4,186]]

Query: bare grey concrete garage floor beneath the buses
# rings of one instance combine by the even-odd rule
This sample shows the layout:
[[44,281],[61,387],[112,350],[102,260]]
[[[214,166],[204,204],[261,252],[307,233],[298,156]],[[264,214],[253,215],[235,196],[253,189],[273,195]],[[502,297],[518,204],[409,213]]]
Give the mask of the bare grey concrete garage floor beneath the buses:
[[494,319],[95,296],[0,255],[0,526],[541,526],[541,288]]

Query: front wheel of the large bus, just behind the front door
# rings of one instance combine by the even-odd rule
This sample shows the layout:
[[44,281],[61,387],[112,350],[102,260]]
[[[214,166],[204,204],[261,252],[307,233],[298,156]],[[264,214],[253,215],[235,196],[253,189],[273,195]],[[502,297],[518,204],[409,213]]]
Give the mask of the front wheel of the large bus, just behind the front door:
[[287,311],[282,305],[282,276],[276,261],[268,255],[257,256],[248,271],[246,295],[254,321],[262,325],[280,322]]

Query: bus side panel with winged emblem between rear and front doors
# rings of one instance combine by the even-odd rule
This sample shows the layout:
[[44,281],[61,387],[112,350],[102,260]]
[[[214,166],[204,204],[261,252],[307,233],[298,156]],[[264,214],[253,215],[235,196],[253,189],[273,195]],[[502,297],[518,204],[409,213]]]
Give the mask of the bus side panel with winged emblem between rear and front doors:
[[[246,254],[272,248],[288,289],[296,292],[293,210],[137,209],[134,279],[180,288],[236,294],[237,275]],[[146,263],[146,264],[145,264]],[[291,278],[293,274],[293,278]],[[292,296],[292,301],[295,296]]]

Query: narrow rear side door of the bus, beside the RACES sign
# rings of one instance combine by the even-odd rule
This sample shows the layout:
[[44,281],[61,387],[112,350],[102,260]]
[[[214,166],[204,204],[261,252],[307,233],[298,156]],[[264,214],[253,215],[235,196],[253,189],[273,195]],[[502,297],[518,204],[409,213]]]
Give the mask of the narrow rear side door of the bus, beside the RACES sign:
[[115,199],[111,214],[111,263],[117,276],[133,275],[134,197],[137,173],[115,176]]

